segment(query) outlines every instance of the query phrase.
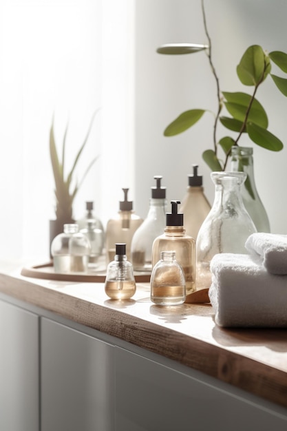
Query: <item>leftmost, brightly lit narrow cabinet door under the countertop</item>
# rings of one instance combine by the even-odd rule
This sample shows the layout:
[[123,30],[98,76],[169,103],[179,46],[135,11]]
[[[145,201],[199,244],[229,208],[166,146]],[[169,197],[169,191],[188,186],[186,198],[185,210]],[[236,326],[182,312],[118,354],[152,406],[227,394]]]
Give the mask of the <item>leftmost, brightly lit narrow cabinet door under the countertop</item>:
[[0,430],[39,430],[39,317],[0,301]]

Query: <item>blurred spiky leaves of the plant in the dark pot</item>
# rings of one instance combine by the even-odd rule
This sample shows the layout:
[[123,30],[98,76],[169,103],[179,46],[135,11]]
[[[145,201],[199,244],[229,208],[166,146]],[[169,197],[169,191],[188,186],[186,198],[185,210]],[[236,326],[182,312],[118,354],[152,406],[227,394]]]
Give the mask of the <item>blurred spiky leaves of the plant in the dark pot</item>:
[[54,120],[52,120],[52,125],[50,128],[50,157],[51,157],[52,169],[53,169],[54,181],[55,181],[54,193],[56,197],[56,218],[58,220],[69,221],[73,219],[73,202],[74,202],[76,193],[78,193],[78,189],[83,184],[83,180],[87,176],[87,173],[89,172],[91,167],[98,159],[98,156],[92,159],[92,161],[89,163],[89,166],[85,170],[85,173],[83,174],[80,182],[78,182],[77,180],[74,180],[73,174],[76,169],[76,165],[78,163],[79,158],[81,157],[81,154],[83,152],[83,149],[85,148],[85,145],[87,144],[87,140],[89,138],[92,125],[94,123],[94,117],[96,116],[97,112],[98,110],[94,112],[92,116],[92,119],[89,123],[89,129],[87,130],[87,134],[85,136],[83,144],[81,145],[81,148],[78,150],[78,154],[76,154],[76,158],[74,160],[74,164],[72,165],[72,169],[66,176],[65,176],[65,147],[66,147],[68,125],[65,128],[65,134],[63,136],[62,158],[60,160],[58,156],[58,151],[56,149],[56,142],[54,138]]

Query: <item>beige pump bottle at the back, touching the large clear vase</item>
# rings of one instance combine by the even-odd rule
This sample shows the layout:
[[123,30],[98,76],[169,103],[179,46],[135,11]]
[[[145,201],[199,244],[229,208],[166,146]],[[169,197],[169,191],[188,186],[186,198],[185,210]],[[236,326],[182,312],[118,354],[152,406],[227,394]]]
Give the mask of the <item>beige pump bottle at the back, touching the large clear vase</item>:
[[187,235],[191,235],[196,240],[198,231],[211,210],[211,205],[204,195],[202,176],[198,176],[198,165],[192,166],[193,174],[189,175],[187,194],[182,200],[179,211],[184,213],[184,228]]

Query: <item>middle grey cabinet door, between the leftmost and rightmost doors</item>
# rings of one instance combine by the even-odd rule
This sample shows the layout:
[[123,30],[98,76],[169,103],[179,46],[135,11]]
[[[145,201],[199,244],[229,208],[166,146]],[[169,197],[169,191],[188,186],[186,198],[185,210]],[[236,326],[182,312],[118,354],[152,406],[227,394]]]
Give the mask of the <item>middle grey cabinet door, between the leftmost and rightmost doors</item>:
[[41,322],[41,431],[114,430],[114,348]]

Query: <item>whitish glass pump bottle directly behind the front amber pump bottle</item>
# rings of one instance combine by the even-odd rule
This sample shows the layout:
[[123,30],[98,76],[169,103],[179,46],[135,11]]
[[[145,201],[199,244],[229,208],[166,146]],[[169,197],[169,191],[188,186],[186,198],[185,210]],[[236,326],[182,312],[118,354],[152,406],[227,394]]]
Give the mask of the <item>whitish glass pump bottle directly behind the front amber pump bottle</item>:
[[161,186],[162,176],[154,176],[156,187],[151,187],[147,218],[134,233],[131,240],[131,262],[135,271],[151,272],[153,241],[164,232],[166,212],[166,188]]

